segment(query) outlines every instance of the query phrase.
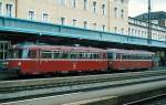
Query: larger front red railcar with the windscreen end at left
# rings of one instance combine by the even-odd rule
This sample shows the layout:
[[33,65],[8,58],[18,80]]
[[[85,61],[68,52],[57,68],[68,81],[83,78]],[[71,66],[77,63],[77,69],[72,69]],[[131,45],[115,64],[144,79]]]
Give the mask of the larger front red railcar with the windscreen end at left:
[[82,46],[15,45],[8,70],[20,74],[70,71],[105,71],[106,51]]

